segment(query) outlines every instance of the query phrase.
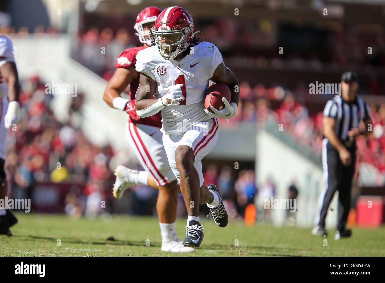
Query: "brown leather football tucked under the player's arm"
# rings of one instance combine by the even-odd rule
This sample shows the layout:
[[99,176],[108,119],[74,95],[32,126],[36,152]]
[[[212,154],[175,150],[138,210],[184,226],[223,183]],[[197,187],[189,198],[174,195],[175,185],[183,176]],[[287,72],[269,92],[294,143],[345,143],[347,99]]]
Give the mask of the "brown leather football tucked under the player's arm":
[[204,94],[204,107],[210,112],[213,112],[210,108],[211,106],[222,110],[224,107],[222,97],[226,97],[227,101],[230,102],[231,91],[229,86],[223,83],[210,85]]

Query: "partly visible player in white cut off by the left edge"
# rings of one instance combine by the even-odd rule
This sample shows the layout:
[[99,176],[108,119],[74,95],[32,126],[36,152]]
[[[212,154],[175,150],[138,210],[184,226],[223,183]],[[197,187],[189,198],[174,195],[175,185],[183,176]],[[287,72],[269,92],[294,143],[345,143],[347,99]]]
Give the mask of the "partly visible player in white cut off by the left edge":
[[[0,36],[0,199],[7,196],[7,178],[5,176],[5,153],[7,149],[8,129],[19,121],[19,79],[13,59],[12,41]],[[0,234],[11,236],[9,228],[17,223],[9,209],[0,207]]]

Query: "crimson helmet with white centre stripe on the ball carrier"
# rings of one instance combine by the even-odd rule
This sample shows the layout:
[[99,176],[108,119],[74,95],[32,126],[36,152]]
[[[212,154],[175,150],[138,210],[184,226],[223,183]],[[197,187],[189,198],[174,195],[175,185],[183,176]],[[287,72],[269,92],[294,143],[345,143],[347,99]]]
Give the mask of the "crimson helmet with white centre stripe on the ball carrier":
[[157,17],[152,33],[159,52],[168,60],[181,54],[190,45],[194,36],[194,22],[184,8],[168,7]]

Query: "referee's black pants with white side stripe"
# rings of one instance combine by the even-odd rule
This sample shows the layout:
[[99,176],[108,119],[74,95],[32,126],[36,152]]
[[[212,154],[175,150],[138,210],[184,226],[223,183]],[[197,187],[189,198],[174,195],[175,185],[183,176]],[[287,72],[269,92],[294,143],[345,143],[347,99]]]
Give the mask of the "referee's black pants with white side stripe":
[[325,219],[329,205],[335,192],[338,190],[338,231],[343,231],[346,228],[356,160],[355,142],[353,142],[352,146],[345,147],[352,156],[352,163],[349,166],[342,165],[338,151],[327,139],[324,139],[322,143],[322,164],[325,185],[319,200],[320,214],[318,216],[318,225],[325,227]]

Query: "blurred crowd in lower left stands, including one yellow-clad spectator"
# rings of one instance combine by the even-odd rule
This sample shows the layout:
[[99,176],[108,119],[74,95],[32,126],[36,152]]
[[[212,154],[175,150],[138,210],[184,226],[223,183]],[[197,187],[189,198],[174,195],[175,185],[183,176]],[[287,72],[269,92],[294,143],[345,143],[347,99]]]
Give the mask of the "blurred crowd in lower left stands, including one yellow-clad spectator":
[[93,145],[80,130],[82,95],[72,100],[70,120],[62,123],[51,111],[53,97],[45,89],[38,77],[22,81],[21,119],[9,131],[5,157],[12,194],[33,199],[35,186],[46,181],[83,184],[84,191],[74,189],[68,194],[66,211],[73,215],[91,212],[92,202],[82,201],[80,196],[110,198],[112,149]]

